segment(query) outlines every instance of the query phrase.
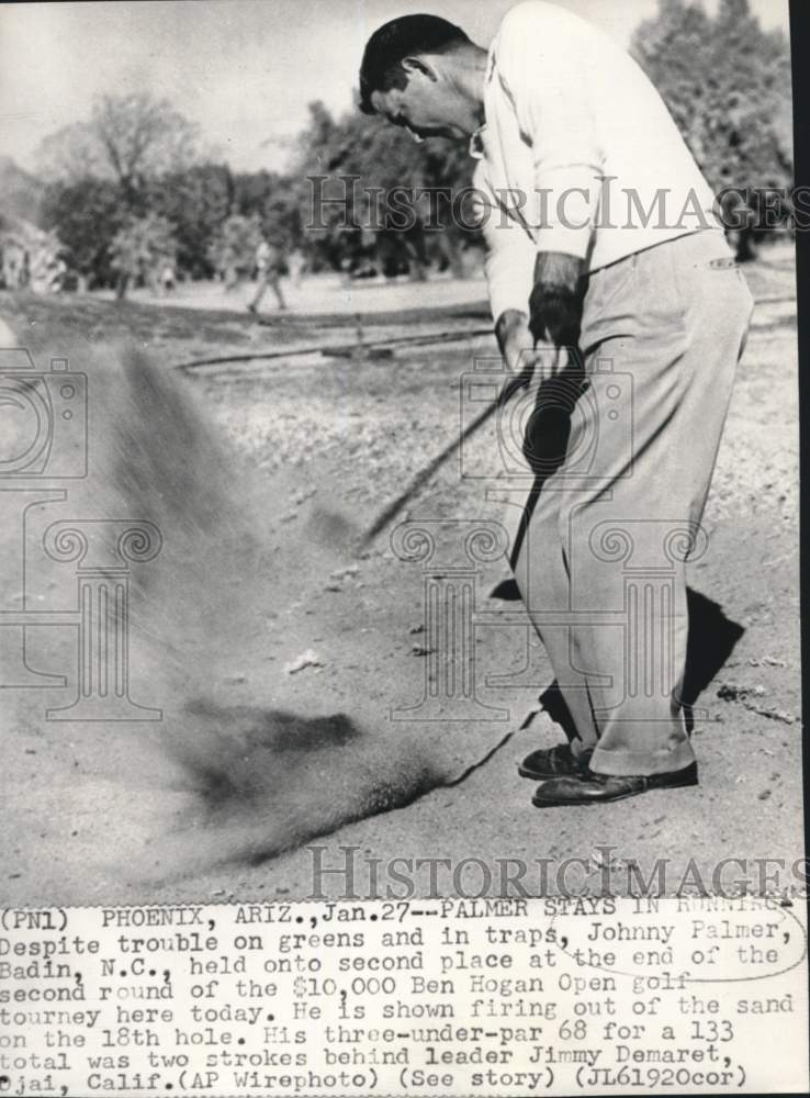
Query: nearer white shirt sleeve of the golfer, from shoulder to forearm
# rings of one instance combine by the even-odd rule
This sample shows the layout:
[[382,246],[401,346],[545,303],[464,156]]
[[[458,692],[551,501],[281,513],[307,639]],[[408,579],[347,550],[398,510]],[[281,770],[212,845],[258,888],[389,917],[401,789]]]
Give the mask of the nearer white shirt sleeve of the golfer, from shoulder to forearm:
[[498,79],[532,149],[537,250],[581,259],[590,245],[604,165],[585,33],[564,10],[521,3],[502,23],[496,48]]

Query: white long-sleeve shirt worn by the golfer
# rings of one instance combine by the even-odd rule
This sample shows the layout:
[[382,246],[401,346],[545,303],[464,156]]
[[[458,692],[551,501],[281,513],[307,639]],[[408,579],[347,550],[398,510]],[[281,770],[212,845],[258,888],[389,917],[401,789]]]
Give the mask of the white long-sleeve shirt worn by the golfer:
[[607,34],[541,0],[490,47],[473,183],[493,316],[528,309],[538,251],[597,270],[719,227],[713,195],[657,91]]

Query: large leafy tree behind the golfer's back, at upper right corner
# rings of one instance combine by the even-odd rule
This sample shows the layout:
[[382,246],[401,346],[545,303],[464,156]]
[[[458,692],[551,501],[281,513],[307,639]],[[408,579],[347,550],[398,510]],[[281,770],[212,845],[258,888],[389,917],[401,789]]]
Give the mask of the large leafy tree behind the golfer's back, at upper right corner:
[[[749,192],[756,214],[764,191],[790,187],[790,51],[747,0],[720,0],[713,19],[698,3],[660,0],[632,51],[716,192]],[[741,258],[760,232],[752,221],[741,225]]]

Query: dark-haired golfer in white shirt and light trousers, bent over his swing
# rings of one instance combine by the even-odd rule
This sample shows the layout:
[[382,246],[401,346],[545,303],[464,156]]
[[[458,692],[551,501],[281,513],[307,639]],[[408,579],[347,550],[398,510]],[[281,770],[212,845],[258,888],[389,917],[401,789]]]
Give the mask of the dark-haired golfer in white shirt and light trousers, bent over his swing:
[[551,3],[511,9],[488,51],[434,15],[393,20],[360,94],[417,138],[469,139],[495,332],[513,373],[533,367],[532,429],[574,394],[513,549],[575,729],[521,763],[533,804],[694,785],[685,562],[706,551],[752,311],[711,191],[630,56]]

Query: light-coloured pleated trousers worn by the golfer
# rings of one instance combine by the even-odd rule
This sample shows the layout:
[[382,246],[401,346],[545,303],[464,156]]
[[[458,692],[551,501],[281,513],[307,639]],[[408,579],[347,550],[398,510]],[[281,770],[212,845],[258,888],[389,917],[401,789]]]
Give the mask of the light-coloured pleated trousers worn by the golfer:
[[598,773],[695,758],[685,567],[711,552],[699,524],[752,307],[719,231],[637,253],[590,276],[581,362],[532,396],[513,567]]

